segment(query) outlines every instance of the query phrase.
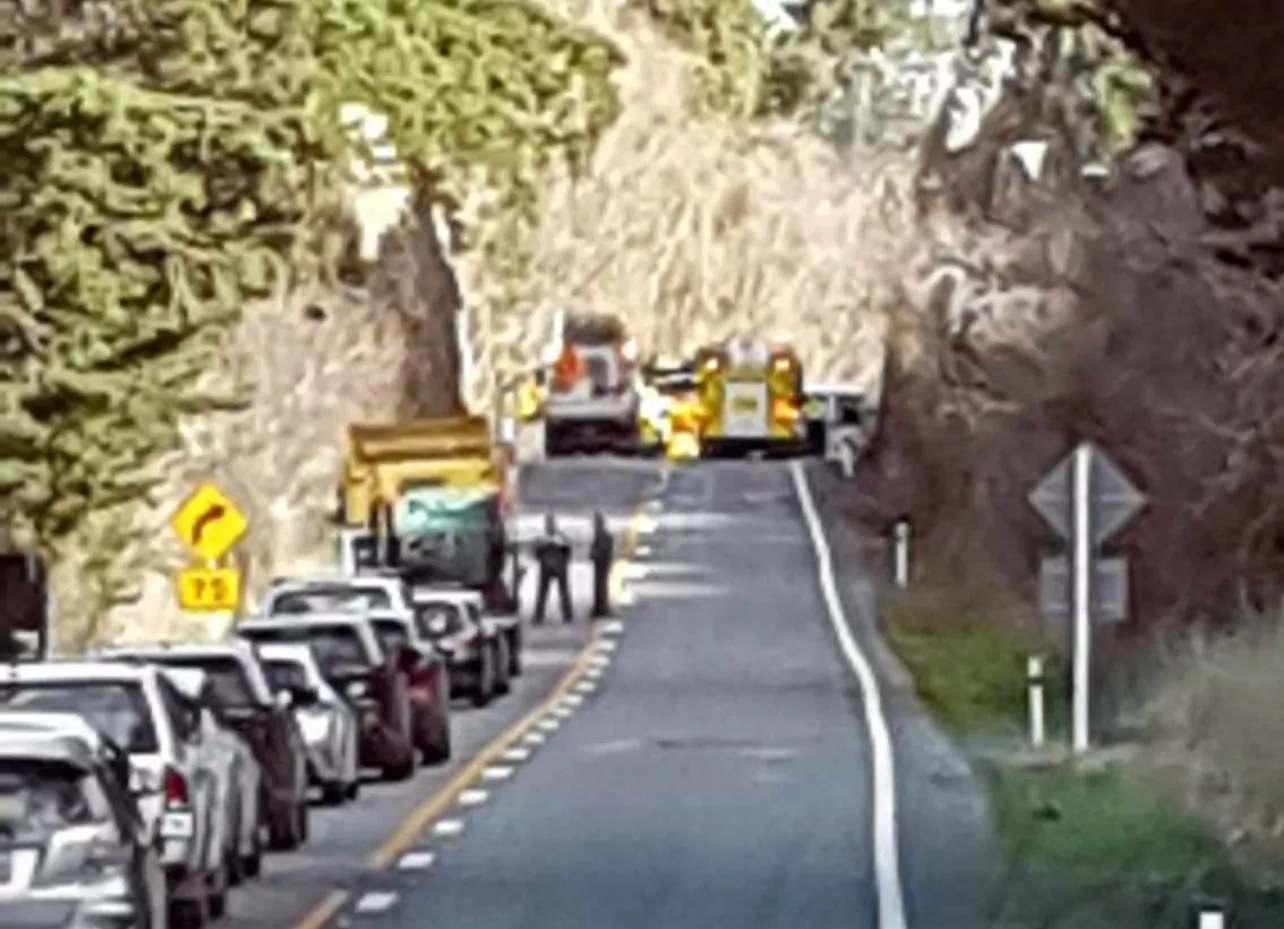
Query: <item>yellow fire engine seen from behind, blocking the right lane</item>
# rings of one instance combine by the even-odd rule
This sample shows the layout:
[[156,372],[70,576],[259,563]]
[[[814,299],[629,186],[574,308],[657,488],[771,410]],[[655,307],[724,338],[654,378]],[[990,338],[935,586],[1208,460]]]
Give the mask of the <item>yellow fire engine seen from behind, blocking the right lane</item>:
[[706,346],[696,353],[696,386],[701,457],[805,447],[802,363],[788,345]]

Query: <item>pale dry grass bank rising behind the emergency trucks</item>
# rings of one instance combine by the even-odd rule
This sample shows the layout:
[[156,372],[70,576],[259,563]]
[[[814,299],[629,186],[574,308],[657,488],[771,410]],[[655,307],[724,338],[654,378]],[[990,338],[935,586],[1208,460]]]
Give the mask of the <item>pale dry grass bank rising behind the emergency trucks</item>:
[[792,340],[818,377],[877,371],[908,166],[853,168],[782,124],[700,119],[687,105],[690,55],[634,13],[589,22],[628,55],[623,115],[586,177],[546,189],[498,363],[529,364],[566,305],[623,314],[643,349],[752,334]]

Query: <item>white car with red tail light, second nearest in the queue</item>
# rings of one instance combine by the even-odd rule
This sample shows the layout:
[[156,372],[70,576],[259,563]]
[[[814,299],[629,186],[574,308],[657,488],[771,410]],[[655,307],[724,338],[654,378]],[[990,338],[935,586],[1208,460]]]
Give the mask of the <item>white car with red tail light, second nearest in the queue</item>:
[[162,842],[169,910],[204,924],[226,908],[235,837],[220,807],[213,719],[154,665],[51,661],[0,666],[0,711],[76,713],[130,756],[131,789]]

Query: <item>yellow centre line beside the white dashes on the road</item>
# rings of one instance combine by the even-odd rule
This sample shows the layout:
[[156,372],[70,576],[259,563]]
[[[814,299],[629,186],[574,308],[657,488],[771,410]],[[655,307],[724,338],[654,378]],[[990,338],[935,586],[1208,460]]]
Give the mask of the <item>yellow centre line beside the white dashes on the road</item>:
[[[624,586],[624,571],[628,566],[628,559],[637,549],[638,521],[641,516],[642,508],[634,507],[633,512],[629,515],[629,527],[620,544],[619,556],[616,557],[615,563],[611,565],[612,599],[619,598],[619,593]],[[584,676],[584,671],[588,669],[588,662],[593,657],[593,647],[597,644],[598,638],[597,626],[593,625],[588,634],[588,642],[586,642],[580,648],[579,654],[575,657],[575,662],[570,666],[570,669],[568,669],[566,674],[561,676],[552,692],[543,701],[541,701],[534,710],[492,739],[480,752],[476,753],[473,761],[461,767],[453,778],[442,785],[437,793],[425,797],[424,801],[421,801],[419,806],[416,806],[401,822],[401,825],[398,825],[379,844],[379,848],[376,848],[370,856],[369,865],[371,867],[388,867],[388,865],[401,857],[402,852],[415,844],[415,840],[422,835],[429,824],[444,812],[469,784],[482,775],[483,769],[507,752],[512,743],[526,734],[526,730],[533,729],[541,719],[547,716],[548,712],[557,704],[557,701],[565,697],[566,693],[575,686],[579,679]],[[343,905],[348,902],[348,897],[349,894],[347,891],[331,891],[325,896],[325,898],[321,899],[320,903],[312,907],[312,910],[309,910],[298,923],[294,924],[294,929],[324,929],[324,926],[334,919],[335,914],[343,908]]]

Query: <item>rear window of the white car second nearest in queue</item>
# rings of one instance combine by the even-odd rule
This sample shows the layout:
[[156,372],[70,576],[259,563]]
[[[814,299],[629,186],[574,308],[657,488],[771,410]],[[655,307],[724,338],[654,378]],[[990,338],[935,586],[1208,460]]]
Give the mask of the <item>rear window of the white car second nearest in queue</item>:
[[135,683],[24,683],[0,692],[0,702],[8,710],[77,713],[127,752],[149,754],[160,749],[146,697]]

